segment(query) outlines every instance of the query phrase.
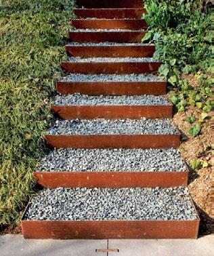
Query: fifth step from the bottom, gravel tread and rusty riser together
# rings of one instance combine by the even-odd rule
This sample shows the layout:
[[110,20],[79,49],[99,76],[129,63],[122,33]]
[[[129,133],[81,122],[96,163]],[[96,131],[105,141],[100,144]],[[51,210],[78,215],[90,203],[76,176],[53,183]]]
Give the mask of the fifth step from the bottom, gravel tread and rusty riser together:
[[58,93],[164,95],[167,81],[152,74],[70,74],[56,82]]

